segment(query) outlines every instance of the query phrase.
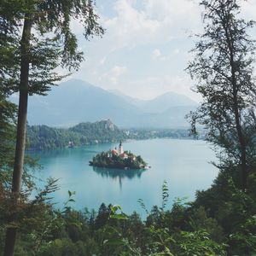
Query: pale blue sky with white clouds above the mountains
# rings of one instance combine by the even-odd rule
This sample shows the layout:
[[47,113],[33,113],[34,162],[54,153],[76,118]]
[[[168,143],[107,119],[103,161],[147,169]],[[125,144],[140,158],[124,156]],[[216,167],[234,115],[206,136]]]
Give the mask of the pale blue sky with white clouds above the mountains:
[[[256,0],[241,2],[241,14],[253,19]],[[200,101],[185,72],[202,29],[197,0],[96,0],[96,11],[102,38],[85,41],[72,22],[85,58],[72,78],[143,100],[172,91]]]

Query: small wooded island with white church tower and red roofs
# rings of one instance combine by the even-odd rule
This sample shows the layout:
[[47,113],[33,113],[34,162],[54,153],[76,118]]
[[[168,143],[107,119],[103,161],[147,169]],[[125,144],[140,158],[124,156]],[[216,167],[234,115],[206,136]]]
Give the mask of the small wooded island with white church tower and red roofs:
[[96,154],[89,162],[90,166],[116,169],[148,169],[147,163],[140,155],[124,151],[122,141],[119,148]]

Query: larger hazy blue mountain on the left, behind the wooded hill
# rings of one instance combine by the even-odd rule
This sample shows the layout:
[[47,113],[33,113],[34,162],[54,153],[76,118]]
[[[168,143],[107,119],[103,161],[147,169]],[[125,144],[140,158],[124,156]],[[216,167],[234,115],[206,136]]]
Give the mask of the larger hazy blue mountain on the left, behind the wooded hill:
[[48,96],[31,96],[28,105],[29,125],[71,126],[83,121],[111,118],[127,124],[137,108],[107,90],[71,79],[52,87]]

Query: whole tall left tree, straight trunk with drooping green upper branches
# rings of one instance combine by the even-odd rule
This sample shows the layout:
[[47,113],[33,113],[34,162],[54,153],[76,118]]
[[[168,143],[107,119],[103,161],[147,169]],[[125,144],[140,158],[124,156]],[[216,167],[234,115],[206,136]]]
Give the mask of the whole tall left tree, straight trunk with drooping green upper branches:
[[[83,53],[70,29],[73,19],[84,26],[85,39],[101,36],[103,29],[91,0],[3,0],[0,15],[1,86],[9,94],[20,93],[12,183],[17,201],[25,153],[28,95],[44,95],[49,85],[63,79],[65,75],[57,74],[56,67],[67,67],[69,71],[79,68]],[[15,236],[16,229],[9,228],[4,255],[13,255]]]

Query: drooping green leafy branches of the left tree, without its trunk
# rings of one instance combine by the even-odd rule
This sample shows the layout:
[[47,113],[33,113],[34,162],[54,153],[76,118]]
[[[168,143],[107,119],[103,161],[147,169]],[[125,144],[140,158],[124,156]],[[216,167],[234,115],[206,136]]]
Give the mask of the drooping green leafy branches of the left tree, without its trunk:
[[20,35],[24,18],[32,26],[33,33],[23,44],[29,54],[29,93],[45,94],[49,85],[63,78],[55,73],[56,67],[77,70],[83,61],[77,38],[70,29],[72,19],[84,26],[84,38],[101,36],[104,32],[98,24],[93,1],[20,1],[3,0],[0,15],[0,82],[3,89],[11,94],[19,90]]

